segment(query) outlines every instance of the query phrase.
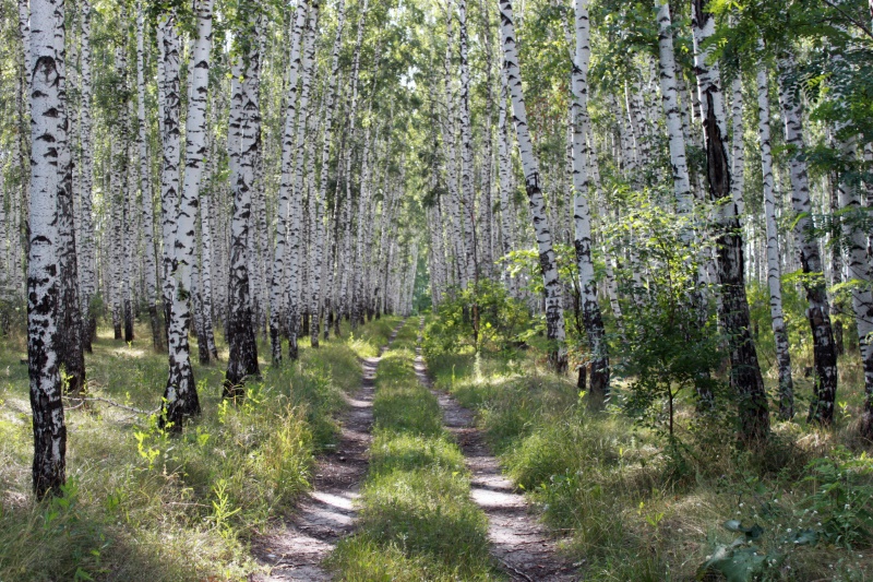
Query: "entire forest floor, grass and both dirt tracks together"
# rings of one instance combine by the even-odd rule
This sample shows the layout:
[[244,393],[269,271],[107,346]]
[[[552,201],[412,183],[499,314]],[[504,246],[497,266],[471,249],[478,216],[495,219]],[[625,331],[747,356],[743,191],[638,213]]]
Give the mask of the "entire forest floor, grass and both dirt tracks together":
[[857,354],[835,430],[774,421],[748,451],[681,401],[671,451],[619,405],[620,382],[595,413],[536,346],[440,352],[432,322],[423,340],[418,318],[344,325],[282,366],[262,344],[263,378],[236,406],[219,338],[222,361],[194,365],[203,414],[180,437],[133,412],[159,406],[166,354],[145,325],[130,344],[104,328],[86,364],[105,401],[68,409],[68,486],[44,502],[26,346],[4,338],[0,581],[660,581],[714,560],[751,568],[737,580],[873,580]]

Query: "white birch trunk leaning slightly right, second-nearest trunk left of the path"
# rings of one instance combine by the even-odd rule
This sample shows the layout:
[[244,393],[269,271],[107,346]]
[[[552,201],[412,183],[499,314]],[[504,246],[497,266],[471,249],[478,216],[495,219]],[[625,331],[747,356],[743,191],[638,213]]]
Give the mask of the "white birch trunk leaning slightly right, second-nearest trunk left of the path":
[[164,392],[162,424],[180,431],[184,419],[200,414],[200,400],[191,367],[191,263],[194,259],[194,222],[200,202],[200,181],[206,154],[206,95],[212,49],[214,0],[195,4],[196,39],[188,70],[184,189],[176,221],[172,305],[168,322],[169,376]]

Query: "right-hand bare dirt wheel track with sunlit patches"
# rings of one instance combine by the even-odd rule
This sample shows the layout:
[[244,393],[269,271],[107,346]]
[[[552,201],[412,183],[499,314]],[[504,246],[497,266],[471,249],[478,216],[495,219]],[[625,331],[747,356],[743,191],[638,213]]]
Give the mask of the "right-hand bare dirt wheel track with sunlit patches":
[[[423,320],[422,320],[423,323]],[[529,511],[524,496],[501,474],[500,463],[489,451],[474,414],[445,392],[434,390],[421,357],[421,337],[416,348],[416,375],[440,400],[443,424],[454,436],[473,474],[470,495],[488,516],[491,555],[515,581],[564,582],[578,580],[575,568],[557,551],[557,541]]]

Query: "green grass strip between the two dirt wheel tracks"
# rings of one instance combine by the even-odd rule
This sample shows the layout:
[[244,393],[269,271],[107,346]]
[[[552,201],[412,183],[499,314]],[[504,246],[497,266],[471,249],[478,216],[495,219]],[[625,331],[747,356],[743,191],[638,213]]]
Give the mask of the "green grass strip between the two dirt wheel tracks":
[[487,520],[470,500],[464,456],[412,368],[415,323],[380,361],[359,531],[328,566],[349,581],[492,580]]

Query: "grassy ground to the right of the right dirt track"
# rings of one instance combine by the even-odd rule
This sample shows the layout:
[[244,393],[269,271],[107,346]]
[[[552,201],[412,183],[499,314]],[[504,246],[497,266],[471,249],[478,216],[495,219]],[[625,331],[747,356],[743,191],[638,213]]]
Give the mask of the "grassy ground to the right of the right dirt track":
[[[722,526],[731,519],[763,528],[756,547],[777,563],[758,579],[873,579],[870,537],[793,543],[798,532],[828,523],[832,532],[841,523],[846,535],[871,523],[873,463],[852,449],[850,420],[834,431],[777,423],[757,451],[738,450],[718,425],[686,429],[679,463],[617,406],[590,413],[574,383],[541,369],[531,352],[431,354],[428,367],[438,388],[477,411],[504,472],[548,525],[569,535],[564,550],[584,562],[585,580],[695,579],[719,545],[742,537]],[[613,400],[621,393],[618,387]],[[690,408],[680,413],[685,426]]]

